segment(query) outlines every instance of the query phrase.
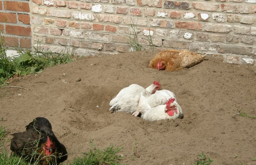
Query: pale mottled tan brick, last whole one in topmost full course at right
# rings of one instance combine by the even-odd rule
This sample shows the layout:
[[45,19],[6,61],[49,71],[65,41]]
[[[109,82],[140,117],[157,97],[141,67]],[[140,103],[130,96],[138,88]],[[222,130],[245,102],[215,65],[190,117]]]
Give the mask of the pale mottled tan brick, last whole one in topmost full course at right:
[[231,13],[249,13],[249,6],[240,4],[222,4],[222,11]]

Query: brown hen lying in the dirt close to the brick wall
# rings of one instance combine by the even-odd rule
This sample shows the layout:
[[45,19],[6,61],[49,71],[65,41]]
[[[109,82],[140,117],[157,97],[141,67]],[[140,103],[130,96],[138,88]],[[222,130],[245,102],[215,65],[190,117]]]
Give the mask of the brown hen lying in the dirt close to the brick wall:
[[206,54],[202,56],[201,54],[190,52],[187,49],[180,51],[168,49],[156,54],[150,61],[149,67],[158,71],[178,71],[202,62],[205,56]]

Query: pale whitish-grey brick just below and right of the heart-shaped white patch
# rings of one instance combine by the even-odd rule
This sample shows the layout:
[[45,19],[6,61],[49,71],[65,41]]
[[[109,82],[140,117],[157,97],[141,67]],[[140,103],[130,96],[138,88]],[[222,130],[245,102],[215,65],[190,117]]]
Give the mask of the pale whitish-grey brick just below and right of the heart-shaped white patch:
[[227,24],[211,24],[207,23],[205,24],[205,31],[209,32],[218,32],[218,33],[229,33],[231,30],[231,25]]

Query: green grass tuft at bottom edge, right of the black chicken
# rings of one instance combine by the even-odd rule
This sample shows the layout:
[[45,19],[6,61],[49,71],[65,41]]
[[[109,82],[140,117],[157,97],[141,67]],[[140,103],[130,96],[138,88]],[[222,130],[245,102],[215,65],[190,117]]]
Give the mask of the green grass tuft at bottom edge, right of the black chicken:
[[100,150],[95,147],[93,140],[90,143],[91,148],[89,153],[84,153],[83,158],[74,158],[69,165],[120,165],[119,161],[122,159],[122,156],[116,155],[120,152],[120,147],[109,146]]

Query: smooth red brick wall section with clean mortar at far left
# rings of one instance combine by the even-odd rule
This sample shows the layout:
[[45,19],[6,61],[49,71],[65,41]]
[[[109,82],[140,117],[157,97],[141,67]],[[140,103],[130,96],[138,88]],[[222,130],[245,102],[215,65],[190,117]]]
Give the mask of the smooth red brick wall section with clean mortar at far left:
[[29,1],[0,1],[0,29],[5,45],[31,48]]

